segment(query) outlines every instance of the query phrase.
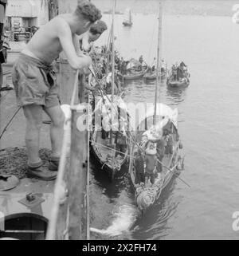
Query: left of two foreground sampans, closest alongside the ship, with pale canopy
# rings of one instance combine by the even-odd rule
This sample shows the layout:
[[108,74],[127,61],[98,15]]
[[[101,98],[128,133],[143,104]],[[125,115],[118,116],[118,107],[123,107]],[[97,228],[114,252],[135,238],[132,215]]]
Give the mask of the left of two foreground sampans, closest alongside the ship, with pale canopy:
[[120,96],[96,96],[92,113],[91,148],[101,169],[113,180],[128,156],[129,116]]

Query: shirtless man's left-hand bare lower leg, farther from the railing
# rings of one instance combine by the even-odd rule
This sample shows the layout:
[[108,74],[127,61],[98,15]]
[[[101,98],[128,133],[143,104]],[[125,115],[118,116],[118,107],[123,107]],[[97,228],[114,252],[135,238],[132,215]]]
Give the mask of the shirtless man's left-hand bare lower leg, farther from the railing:
[[28,155],[28,164],[40,163],[39,144],[42,122],[41,105],[27,105],[23,107],[26,118],[25,146]]

